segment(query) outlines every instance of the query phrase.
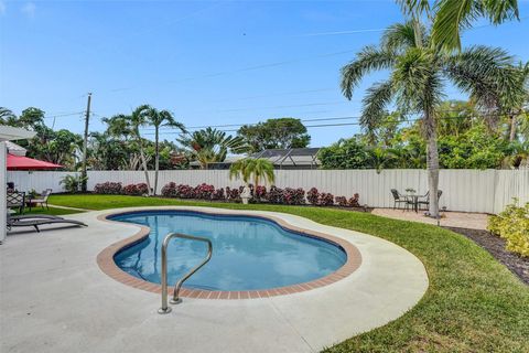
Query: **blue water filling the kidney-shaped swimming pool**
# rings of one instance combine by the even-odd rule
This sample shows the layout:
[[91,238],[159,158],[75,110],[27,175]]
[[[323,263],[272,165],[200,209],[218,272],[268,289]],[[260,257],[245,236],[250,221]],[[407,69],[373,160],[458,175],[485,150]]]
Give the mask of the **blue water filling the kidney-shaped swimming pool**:
[[[287,231],[251,216],[197,212],[136,212],[112,221],[149,226],[144,240],[115,256],[116,264],[138,278],[160,284],[161,248],[171,232],[204,236],[213,243],[210,261],[185,287],[206,290],[256,290],[306,282],[342,267],[347,255],[328,242]],[[168,247],[168,277],[173,286],[207,253],[202,242],[174,238]]]

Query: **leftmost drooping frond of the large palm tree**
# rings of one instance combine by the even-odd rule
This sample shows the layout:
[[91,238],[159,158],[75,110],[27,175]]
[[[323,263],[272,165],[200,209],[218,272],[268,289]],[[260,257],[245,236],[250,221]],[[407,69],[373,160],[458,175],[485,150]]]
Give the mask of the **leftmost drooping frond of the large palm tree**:
[[374,69],[390,68],[395,63],[395,53],[379,50],[375,46],[364,47],[356,60],[342,67],[342,93],[347,98],[353,97],[353,89],[360,79]]

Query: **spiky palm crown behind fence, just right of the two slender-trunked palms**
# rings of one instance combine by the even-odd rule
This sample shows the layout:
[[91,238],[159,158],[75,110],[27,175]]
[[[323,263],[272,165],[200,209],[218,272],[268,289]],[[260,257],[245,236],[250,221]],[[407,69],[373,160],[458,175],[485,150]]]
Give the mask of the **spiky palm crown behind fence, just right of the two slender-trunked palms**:
[[176,140],[192,159],[201,163],[202,169],[207,169],[209,163],[223,162],[228,152],[241,153],[247,150],[241,137],[226,136],[226,132],[213,128],[183,133]]

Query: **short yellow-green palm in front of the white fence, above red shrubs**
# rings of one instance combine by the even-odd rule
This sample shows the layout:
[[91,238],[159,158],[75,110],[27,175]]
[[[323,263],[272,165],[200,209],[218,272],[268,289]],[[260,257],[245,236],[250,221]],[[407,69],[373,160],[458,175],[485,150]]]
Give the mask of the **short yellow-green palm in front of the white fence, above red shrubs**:
[[273,172],[273,163],[264,158],[245,158],[238,160],[229,167],[229,179],[242,179],[248,182],[253,179],[253,188],[259,186],[261,179],[273,183],[276,175]]

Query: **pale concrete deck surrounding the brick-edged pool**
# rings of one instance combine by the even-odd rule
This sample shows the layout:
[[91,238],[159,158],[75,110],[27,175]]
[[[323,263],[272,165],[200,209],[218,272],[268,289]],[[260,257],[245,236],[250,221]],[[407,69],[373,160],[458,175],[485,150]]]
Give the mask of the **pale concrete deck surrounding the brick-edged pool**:
[[12,233],[0,246],[1,352],[317,352],[397,319],[428,289],[422,263],[387,240],[289,214],[215,208],[270,215],[343,238],[358,248],[361,266],[309,291],[261,299],[185,298],[160,315],[159,295],[118,282],[97,265],[104,248],[139,231],[97,220],[110,212],[68,215],[89,226]]

